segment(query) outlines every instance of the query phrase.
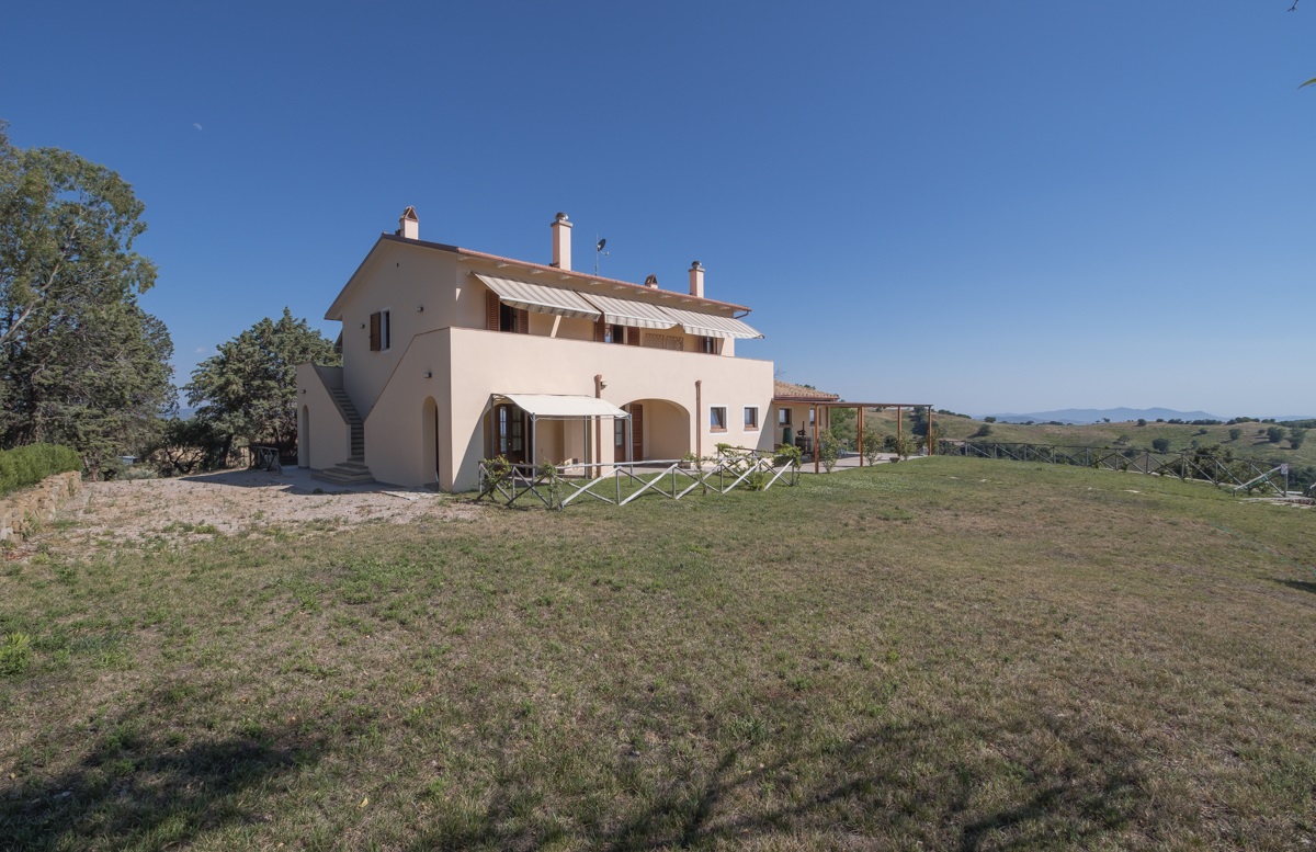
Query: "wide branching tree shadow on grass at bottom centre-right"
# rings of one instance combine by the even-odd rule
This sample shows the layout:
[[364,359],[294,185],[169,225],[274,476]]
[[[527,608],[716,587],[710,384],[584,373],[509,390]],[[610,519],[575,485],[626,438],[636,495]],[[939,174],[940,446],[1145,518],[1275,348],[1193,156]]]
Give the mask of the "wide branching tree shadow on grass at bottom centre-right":
[[[1019,739],[1028,724],[1041,738]],[[894,847],[1023,849],[1054,845],[1117,845],[1146,798],[1136,755],[1121,752],[1108,730],[1037,715],[979,731],[976,744],[1013,751],[1008,768],[970,756],[929,765],[928,743],[944,739],[940,724],[875,727],[844,747],[792,752],[772,761],[751,760],[745,743],[721,752],[715,765],[670,773],[670,782],[629,814],[599,814],[596,826],[575,826],[591,848],[667,849],[754,844],[792,839],[808,844],[863,844],[882,838]],[[1020,744],[1020,743],[1025,744]],[[1030,746],[1026,743],[1032,743]],[[969,752],[992,751],[969,748]],[[1057,753],[1065,759],[1057,760]],[[628,760],[621,757],[621,761]],[[763,802],[766,778],[790,778],[800,767],[820,767],[788,795]],[[920,767],[919,772],[909,772]],[[537,831],[524,818],[533,778],[507,777],[487,805],[459,826],[434,824],[411,847],[420,849],[529,849],[566,830]],[[619,774],[626,764],[619,763]],[[991,793],[1001,778],[1020,778],[1011,795]],[[625,786],[622,784],[622,786]],[[787,803],[780,803],[787,802]],[[820,840],[821,839],[821,840]]]

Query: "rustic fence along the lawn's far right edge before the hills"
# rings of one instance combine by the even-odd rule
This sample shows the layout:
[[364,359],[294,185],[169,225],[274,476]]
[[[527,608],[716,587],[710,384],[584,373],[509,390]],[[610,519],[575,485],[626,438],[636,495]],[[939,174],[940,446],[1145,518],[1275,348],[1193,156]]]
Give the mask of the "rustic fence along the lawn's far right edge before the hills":
[[1179,452],[1155,452],[1152,450],[1111,447],[1075,447],[1053,444],[938,440],[940,455],[973,456],[978,459],[1009,459],[1015,462],[1042,462],[1046,464],[1070,464],[1104,471],[1124,471],[1154,476],[1174,476],[1182,480],[1200,480],[1213,485],[1241,489],[1269,488],[1284,496],[1284,489],[1275,484],[1282,468],[1273,462],[1254,459],[1220,458],[1211,454],[1184,450]]

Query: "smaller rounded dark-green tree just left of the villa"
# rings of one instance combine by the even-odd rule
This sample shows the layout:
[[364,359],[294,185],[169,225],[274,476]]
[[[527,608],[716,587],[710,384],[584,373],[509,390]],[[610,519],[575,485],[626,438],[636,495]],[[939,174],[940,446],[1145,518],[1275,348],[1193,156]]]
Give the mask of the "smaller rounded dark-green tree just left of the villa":
[[187,401],[224,440],[228,458],[236,439],[268,443],[290,452],[297,442],[297,364],[338,364],[333,342],[283,309],[278,320],[257,322],[192,371]]

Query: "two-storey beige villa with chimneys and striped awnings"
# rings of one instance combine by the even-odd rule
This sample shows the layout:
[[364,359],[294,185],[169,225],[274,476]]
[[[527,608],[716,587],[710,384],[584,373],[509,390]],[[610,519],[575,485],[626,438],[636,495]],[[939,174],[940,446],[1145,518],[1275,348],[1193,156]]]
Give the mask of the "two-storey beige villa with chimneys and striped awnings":
[[297,463],[317,476],[470,490],[486,458],[586,471],[771,450],[794,425],[772,363],[736,356],[762,337],[749,309],[708,298],[699,262],[671,291],[572,270],[565,213],[549,263],[426,242],[413,208],[399,225],[325,313],[343,366],[297,369]]

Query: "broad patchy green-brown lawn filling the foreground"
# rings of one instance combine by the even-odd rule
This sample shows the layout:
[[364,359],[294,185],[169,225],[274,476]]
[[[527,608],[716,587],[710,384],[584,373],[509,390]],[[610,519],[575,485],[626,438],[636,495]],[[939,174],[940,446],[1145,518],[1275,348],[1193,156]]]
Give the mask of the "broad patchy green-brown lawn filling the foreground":
[[928,459],[0,572],[0,845],[1309,848],[1316,513]]

